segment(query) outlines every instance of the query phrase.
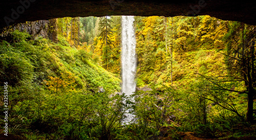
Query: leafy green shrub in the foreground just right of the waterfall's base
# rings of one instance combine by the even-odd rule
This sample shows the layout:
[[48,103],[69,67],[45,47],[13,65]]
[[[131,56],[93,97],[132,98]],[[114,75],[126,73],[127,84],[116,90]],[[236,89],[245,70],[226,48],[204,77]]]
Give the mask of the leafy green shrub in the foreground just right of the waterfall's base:
[[158,130],[163,126],[173,105],[173,95],[173,92],[161,93],[156,90],[134,94],[134,114],[139,127],[147,131],[151,128]]

